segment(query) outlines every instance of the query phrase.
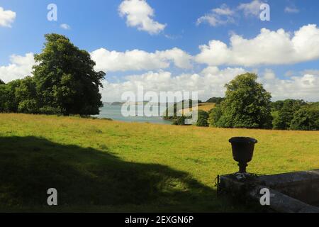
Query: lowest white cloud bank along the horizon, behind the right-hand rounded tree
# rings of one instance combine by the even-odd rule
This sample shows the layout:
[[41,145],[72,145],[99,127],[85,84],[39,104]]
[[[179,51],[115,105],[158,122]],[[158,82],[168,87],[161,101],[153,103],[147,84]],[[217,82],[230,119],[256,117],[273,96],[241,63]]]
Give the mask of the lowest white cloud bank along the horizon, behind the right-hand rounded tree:
[[[123,92],[135,92],[142,86],[145,92],[198,92],[198,98],[206,100],[212,96],[225,96],[225,84],[238,74],[247,72],[242,67],[206,67],[199,73],[173,75],[172,72],[159,70],[125,77],[123,82],[104,82],[101,89],[103,101],[121,101]],[[272,93],[272,99],[304,99],[318,101],[319,75],[303,74],[301,76],[280,79],[272,70],[265,70],[259,75],[259,82]]]

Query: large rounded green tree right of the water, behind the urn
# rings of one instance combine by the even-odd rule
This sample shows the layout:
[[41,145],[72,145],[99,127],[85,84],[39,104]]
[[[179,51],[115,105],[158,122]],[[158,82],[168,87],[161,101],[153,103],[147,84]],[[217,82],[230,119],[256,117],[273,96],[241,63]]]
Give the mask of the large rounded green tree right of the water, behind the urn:
[[225,85],[225,100],[213,125],[223,128],[271,128],[271,94],[257,82],[257,74],[240,74]]

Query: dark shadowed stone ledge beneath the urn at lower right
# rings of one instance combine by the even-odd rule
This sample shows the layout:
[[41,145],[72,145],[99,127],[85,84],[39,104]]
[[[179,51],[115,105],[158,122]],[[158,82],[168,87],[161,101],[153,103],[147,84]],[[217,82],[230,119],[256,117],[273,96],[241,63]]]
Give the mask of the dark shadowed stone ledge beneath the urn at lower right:
[[319,170],[289,172],[279,175],[237,175],[220,177],[218,190],[259,204],[260,189],[272,194],[269,208],[284,213],[319,213]]

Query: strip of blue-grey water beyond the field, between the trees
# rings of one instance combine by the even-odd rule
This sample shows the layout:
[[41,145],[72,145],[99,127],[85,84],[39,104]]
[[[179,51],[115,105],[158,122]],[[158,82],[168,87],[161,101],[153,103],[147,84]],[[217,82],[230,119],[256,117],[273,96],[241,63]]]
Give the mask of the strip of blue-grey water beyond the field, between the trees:
[[[135,106],[135,108],[136,107],[137,106]],[[146,108],[149,108],[149,107],[150,106],[146,105]],[[153,111],[155,111],[156,113],[160,113],[160,106],[152,106],[152,108],[153,108]],[[96,115],[95,117],[98,117],[98,118],[111,118],[111,119],[116,120],[116,121],[148,122],[148,123],[159,123],[159,124],[172,125],[172,121],[164,120],[160,116],[152,116],[152,117],[147,117],[147,116],[129,116],[129,117],[125,117],[125,116],[122,115],[121,109],[122,109],[122,105],[104,104],[104,106],[101,108],[100,114]],[[142,114],[142,111],[137,111],[137,114]]]

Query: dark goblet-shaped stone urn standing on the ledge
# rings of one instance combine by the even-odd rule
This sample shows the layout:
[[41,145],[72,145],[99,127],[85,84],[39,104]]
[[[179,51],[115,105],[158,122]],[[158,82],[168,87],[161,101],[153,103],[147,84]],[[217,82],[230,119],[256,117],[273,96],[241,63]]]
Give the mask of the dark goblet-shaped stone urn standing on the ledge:
[[258,141],[250,137],[233,137],[229,142],[232,144],[233,158],[238,162],[239,173],[247,173],[247,163],[252,160],[254,145]]

